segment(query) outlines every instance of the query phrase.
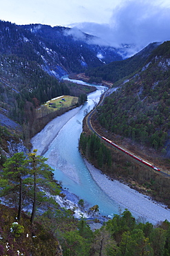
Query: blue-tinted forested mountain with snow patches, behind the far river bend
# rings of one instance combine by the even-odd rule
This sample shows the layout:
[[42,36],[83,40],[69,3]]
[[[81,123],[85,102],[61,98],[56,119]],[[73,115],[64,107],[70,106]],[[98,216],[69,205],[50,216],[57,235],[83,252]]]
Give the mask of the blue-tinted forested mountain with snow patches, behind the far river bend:
[[[0,21],[0,53],[34,60],[44,71],[59,78],[86,68],[123,60],[115,48],[92,44],[95,37],[71,33],[71,28],[31,24],[17,26]],[[83,35],[83,36],[82,36]]]

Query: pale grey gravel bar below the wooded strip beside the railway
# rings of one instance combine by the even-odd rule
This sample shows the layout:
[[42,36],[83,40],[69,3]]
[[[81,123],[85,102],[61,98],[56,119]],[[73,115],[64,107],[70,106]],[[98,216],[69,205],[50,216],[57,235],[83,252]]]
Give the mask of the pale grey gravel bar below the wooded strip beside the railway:
[[98,186],[124,209],[127,208],[135,217],[140,216],[153,224],[165,219],[170,221],[170,210],[166,208],[166,205],[152,201],[149,196],[140,194],[119,181],[111,181],[108,176],[86,160],[85,163]]

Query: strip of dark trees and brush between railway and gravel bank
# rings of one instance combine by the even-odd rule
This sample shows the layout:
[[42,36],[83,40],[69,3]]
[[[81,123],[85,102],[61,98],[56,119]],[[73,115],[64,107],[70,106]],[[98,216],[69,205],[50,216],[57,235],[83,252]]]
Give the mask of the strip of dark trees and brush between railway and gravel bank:
[[[92,124],[95,127],[96,123],[94,123],[94,120],[92,120]],[[164,205],[170,207],[170,179],[158,174],[158,172],[154,172],[151,168],[142,165],[138,161],[134,161],[130,156],[123,154],[123,152],[120,152],[114,147],[110,147],[104,142],[104,146],[107,147],[107,149],[105,149],[103,142],[99,143],[99,138],[96,138],[94,134],[88,135],[87,129],[86,122],[84,122],[83,134],[81,134],[79,141],[79,149],[88,161],[93,163],[95,167],[100,168],[110,179],[125,182],[129,184],[130,188],[142,194],[147,194],[147,196],[150,196],[154,201],[164,203]],[[109,138],[110,134],[111,133],[107,132],[107,138]],[[111,138],[109,139],[111,140]],[[133,150],[133,145],[132,143],[131,150]],[[102,147],[103,150],[100,149],[100,147]],[[101,152],[102,154],[100,154]],[[158,159],[155,158],[155,161],[157,160]],[[154,164],[154,161],[152,162],[150,159],[150,163]],[[169,162],[167,161],[166,163],[168,168]],[[160,161],[160,166],[161,164],[162,161]]]

